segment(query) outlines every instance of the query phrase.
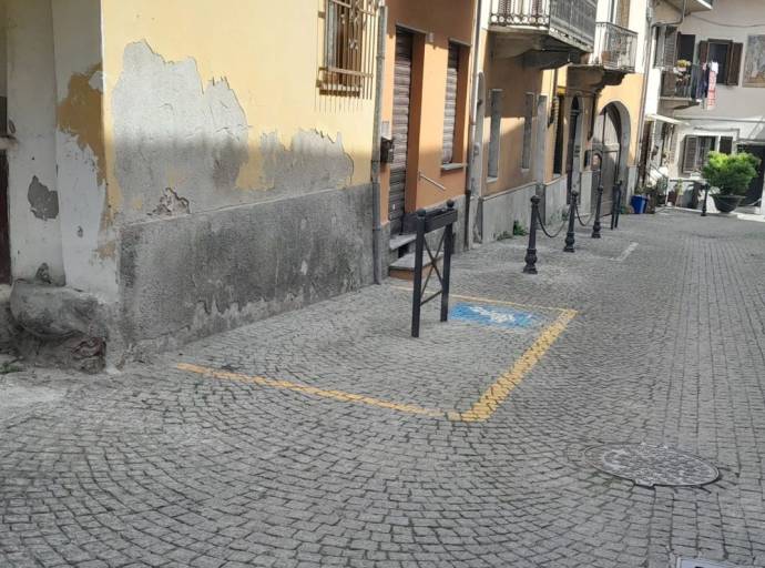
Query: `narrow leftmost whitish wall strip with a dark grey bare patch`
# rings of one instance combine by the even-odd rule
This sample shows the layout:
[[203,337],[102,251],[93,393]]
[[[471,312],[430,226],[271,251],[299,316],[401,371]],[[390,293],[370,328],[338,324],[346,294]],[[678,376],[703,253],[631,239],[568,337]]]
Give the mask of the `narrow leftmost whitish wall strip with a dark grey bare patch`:
[[11,271],[33,277],[45,263],[63,283],[51,1],[7,0],[7,10],[8,119],[17,141],[8,152]]

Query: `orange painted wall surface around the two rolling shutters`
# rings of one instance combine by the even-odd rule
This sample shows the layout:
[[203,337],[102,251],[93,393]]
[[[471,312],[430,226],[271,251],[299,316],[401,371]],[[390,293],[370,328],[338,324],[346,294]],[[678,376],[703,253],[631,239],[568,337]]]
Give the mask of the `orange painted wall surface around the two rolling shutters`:
[[[396,27],[402,26],[415,32],[415,65],[412,69],[412,113],[409,122],[409,145],[417,158],[408,161],[406,211],[427,207],[448,197],[465,193],[466,169],[441,170],[441,149],[443,140],[443,103],[446,98],[447,59],[449,41],[456,40],[468,45],[472,39],[475,0],[388,0],[388,38],[386,45],[385,87],[382,97],[382,121],[392,122],[394,71],[396,53]],[[432,32],[432,41],[427,34]],[[418,52],[418,43],[420,51]],[[462,50],[459,65],[458,116],[463,116],[462,135],[455,149],[455,159],[467,161],[470,48]],[[419,59],[419,61],[417,61]],[[421,73],[421,81],[417,74]],[[419,101],[419,104],[418,104]],[[461,106],[461,111],[459,108]],[[460,114],[461,112],[461,114]],[[410,152],[410,156],[412,153]],[[424,180],[417,172],[445,185],[440,191]],[[380,201],[382,220],[388,216],[389,171],[382,164],[380,172]]]

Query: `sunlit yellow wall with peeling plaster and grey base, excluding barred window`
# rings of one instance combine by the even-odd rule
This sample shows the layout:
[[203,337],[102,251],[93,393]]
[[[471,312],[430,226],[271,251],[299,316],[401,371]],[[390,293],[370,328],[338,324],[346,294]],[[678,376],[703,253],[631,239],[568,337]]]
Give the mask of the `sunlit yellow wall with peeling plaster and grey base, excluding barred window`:
[[374,101],[317,89],[323,0],[102,0],[120,332],[154,351],[371,282]]

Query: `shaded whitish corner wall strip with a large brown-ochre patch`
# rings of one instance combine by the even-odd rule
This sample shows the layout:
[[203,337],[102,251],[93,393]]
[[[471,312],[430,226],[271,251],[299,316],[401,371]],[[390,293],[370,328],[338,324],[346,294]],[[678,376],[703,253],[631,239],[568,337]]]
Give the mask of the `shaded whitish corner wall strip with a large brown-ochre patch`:
[[53,3],[57,161],[67,284],[116,300],[115,234],[108,209],[99,0]]

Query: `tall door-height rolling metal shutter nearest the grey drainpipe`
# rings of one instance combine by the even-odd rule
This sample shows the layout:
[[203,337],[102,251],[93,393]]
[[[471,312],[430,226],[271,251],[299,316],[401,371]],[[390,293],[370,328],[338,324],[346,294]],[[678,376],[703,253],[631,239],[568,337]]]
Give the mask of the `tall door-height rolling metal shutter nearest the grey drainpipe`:
[[396,30],[396,69],[394,72],[394,161],[390,164],[388,219],[391,234],[401,231],[407,185],[409,105],[411,95],[411,33]]

